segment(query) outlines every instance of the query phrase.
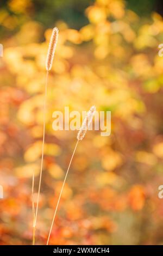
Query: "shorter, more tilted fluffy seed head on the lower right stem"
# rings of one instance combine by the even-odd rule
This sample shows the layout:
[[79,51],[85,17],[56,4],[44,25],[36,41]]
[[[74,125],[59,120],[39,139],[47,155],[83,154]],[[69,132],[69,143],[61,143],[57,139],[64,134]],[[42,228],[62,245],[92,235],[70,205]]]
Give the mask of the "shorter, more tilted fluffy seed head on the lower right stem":
[[82,141],[82,139],[84,138],[86,131],[91,124],[91,121],[92,121],[93,115],[95,114],[95,111],[96,111],[96,107],[92,106],[90,108],[90,110],[87,112],[86,117],[84,118],[82,127],[80,128],[78,135],[77,135],[78,141]]

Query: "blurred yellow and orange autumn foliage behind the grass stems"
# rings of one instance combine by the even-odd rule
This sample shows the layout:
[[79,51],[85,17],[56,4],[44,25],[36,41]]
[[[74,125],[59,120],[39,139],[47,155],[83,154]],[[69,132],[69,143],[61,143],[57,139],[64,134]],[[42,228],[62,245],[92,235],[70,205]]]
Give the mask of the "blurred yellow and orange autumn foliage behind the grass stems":
[[[53,245],[163,244],[163,8],[154,0],[1,0],[1,245],[32,243],[32,175],[38,189],[45,59],[45,158],[36,244],[45,244],[77,131],[53,131],[52,113],[111,111],[111,136],[79,143],[52,231]],[[36,196],[36,194],[35,194]]]

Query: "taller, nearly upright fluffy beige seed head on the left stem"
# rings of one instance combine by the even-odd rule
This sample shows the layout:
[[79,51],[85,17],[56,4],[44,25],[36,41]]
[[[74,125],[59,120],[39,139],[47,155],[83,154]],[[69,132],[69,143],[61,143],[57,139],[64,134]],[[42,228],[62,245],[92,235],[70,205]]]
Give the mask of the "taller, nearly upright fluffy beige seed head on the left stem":
[[51,40],[49,42],[48,53],[46,57],[46,70],[48,71],[51,70],[52,68],[55,48],[58,40],[58,33],[59,33],[58,28],[54,27],[51,35]]

